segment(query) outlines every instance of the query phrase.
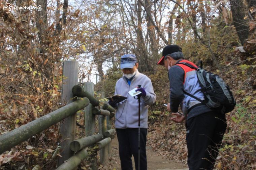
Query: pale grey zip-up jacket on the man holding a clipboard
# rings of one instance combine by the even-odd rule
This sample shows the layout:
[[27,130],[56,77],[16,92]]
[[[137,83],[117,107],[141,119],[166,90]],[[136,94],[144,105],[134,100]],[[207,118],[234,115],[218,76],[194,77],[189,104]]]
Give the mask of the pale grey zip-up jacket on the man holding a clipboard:
[[118,129],[138,128],[138,100],[128,93],[138,85],[141,85],[147,92],[145,97],[141,96],[140,101],[140,128],[148,128],[148,107],[156,101],[156,94],[151,80],[137,71],[130,86],[124,76],[116,83],[115,95],[128,97],[117,104],[115,127]]

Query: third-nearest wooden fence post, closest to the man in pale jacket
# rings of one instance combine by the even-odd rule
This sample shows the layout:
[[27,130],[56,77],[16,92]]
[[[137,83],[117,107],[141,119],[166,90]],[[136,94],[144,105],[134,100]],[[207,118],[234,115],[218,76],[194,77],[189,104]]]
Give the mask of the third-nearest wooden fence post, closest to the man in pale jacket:
[[[98,93],[101,94],[100,98],[105,97],[104,92],[98,92]],[[99,133],[104,134],[104,132],[107,131],[106,116],[98,115],[98,118],[99,118],[98,119],[99,120]],[[104,165],[107,160],[108,160],[108,148],[107,148],[107,145],[106,145],[100,150],[100,163],[102,163]]]

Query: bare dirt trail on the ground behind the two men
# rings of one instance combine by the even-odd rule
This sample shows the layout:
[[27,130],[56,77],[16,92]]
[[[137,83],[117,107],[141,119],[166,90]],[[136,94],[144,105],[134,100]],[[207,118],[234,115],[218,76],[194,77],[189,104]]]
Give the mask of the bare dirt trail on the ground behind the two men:
[[[121,170],[120,158],[118,153],[118,140],[117,137],[112,140],[112,157],[108,161],[107,170]],[[148,160],[148,170],[173,170],[173,169],[184,169],[187,168],[187,165],[183,163],[177,163],[174,161],[169,161],[161,156],[158,156],[152,149],[151,146],[147,146],[147,160]],[[134,167],[134,159],[132,157],[133,170]]]

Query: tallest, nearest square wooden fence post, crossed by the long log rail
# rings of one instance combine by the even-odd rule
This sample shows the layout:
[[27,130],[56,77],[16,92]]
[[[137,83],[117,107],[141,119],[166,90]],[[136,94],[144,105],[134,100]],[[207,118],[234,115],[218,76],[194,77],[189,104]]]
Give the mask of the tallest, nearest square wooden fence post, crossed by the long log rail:
[[[64,61],[62,70],[62,90],[61,90],[61,103],[62,105],[73,102],[72,87],[77,85],[78,80],[78,62],[77,61]],[[74,155],[70,150],[69,143],[75,139],[76,128],[76,114],[65,118],[60,123],[60,146],[61,152],[58,159],[58,166],[64,161],[68,160]]]

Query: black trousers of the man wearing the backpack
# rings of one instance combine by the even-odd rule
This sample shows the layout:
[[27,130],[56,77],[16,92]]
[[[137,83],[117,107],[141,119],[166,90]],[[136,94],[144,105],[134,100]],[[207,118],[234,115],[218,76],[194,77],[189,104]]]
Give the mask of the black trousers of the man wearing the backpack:
[[207,112],[186,122],[189,170],[212,170],[227,127],[225,114]]

